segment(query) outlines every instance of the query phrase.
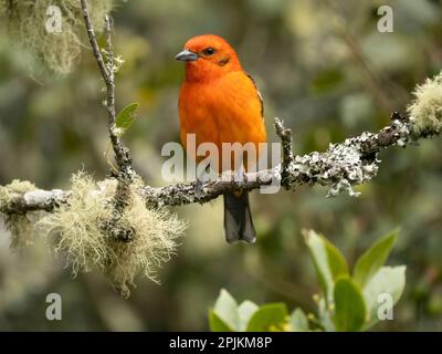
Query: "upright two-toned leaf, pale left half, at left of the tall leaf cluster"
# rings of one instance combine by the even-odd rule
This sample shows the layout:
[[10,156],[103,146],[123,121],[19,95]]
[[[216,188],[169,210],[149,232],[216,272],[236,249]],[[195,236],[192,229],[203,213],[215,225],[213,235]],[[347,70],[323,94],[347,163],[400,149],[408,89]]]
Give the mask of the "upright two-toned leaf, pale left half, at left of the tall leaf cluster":
[[344,256],[324,236],[314,230],[304,232],[305,242],[311,251],[313,262],[327,302],[333,302],[334,282],[348,274],[348,266]]

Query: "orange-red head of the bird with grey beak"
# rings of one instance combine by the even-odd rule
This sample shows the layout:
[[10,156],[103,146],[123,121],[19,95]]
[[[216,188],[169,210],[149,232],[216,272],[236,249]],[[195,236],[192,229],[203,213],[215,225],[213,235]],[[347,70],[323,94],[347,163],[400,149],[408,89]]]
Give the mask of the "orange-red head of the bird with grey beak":
[[214,34],[191,38],[176,59],[186,62],[188,81],[212,80],[228,72],[242,70],[233,48]]

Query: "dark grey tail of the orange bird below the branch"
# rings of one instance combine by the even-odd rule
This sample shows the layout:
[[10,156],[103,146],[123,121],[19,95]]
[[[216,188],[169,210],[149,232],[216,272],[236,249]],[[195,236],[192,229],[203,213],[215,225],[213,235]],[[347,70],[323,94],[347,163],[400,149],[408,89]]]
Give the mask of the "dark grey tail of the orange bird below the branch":
[[253,243],[256,240],[249,207],[249,192],[224,195],[224,232],[229,243],[236,241]]

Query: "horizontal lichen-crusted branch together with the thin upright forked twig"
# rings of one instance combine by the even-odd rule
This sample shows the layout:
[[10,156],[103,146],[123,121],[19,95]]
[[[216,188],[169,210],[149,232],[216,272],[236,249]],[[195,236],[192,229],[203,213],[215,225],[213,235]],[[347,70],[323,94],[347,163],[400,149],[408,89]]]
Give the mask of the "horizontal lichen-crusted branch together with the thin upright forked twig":
[[[127,230],[118,229],[118,220],[122,211],[127,206],[129,186],[136,176],[131,168],[131,159],[128,149],[120,142],[115,126],[115,59],[112,45],[112,25],[108,15],[105,18],[106,31],[106,51],[99,50],[95,32],[91,22],[87,9],[87,0],[81,0],[83,17],[91,46],[106,83],[106,110],[108,115],[108,132],[115,159],[118,164],[117,177],[118,184],[114,197],[114,214],[109,220],[109,231],[113,235],[127,235]],[[341,191],[350,196],[357,196],[352,187],[364,184],[373,178],[379,168],[380,160],[378,154],[383,148],[392,146],[406,147],[409,143],[415,143],[421,138],[436,135],[442,132],[442,118],[439,116],[440,105],[440,85],[442,79],[438,76],[434,81],[427,82],[424,93],[422,86],[419,87],[418,96],[427,94],[432,100],[422,100],[421,102],[432,102],[435,107],[424,107],[422,104],[415,104],[415,111],[421,117],[417,121],[414,117],[403,118],[399,113],[391,115],[392,123],[378,133],[365,132],[359,136],[347,138],[339,144],[330,144],[325,153],[313,152],[304,156],[294,156],[292,152],[292,132],[285,128],[283,122],[275,118],[274,126],[277,136],[282,140],[283,159],[281,165],[249,173],[244,180],[235,181],[234,178],[227,180],[219,178],[207,181],[201,186],[197,183],[176,184],[166,187],[145,186],[140,192],[146,204],[151,207],[180,206],[192,202],[204,204],[218,198],[218,196],[235,190],[253,190],[264,186],[282,185],[287,190],[294,190],[299,185],[322,185],[328,186],[328,197],[336,196]],[[436,97],[436,98],[434,98]],[[438,101],[439,100],[439,101]],[[413,113],[414,115],[414,113]],[[25,184],[27,189],[18,189],[17,185],[0,186],[0,212],[6,215],[25,215],[29,211],[44,210],[52,211],[63,204],[69,204],[71,191],[66,190],[32,190],[31,184]],[[31,187],[30,187],[31,186]],[[30,188],[29,188],[30,187]],[[20,191],[21,190],[21,191]],[[97,192],[99,192],[97,190]],[[120,232],[119,232],[120,231]]]

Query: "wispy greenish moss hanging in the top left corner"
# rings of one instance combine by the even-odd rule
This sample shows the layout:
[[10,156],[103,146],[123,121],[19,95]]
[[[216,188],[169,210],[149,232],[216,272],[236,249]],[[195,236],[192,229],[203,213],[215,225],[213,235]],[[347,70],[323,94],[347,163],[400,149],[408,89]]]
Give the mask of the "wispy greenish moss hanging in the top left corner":
[[[88,0],[92,22],[97,32],[104,29],[104,17],[113,0]],[[62,12],[62,31],[48,32],[50,6]],[[12,39],[24,50],[38,55],[56,73],[71,72],[86,43],[80,0],[0,0],[0,19],[6,19]]]

